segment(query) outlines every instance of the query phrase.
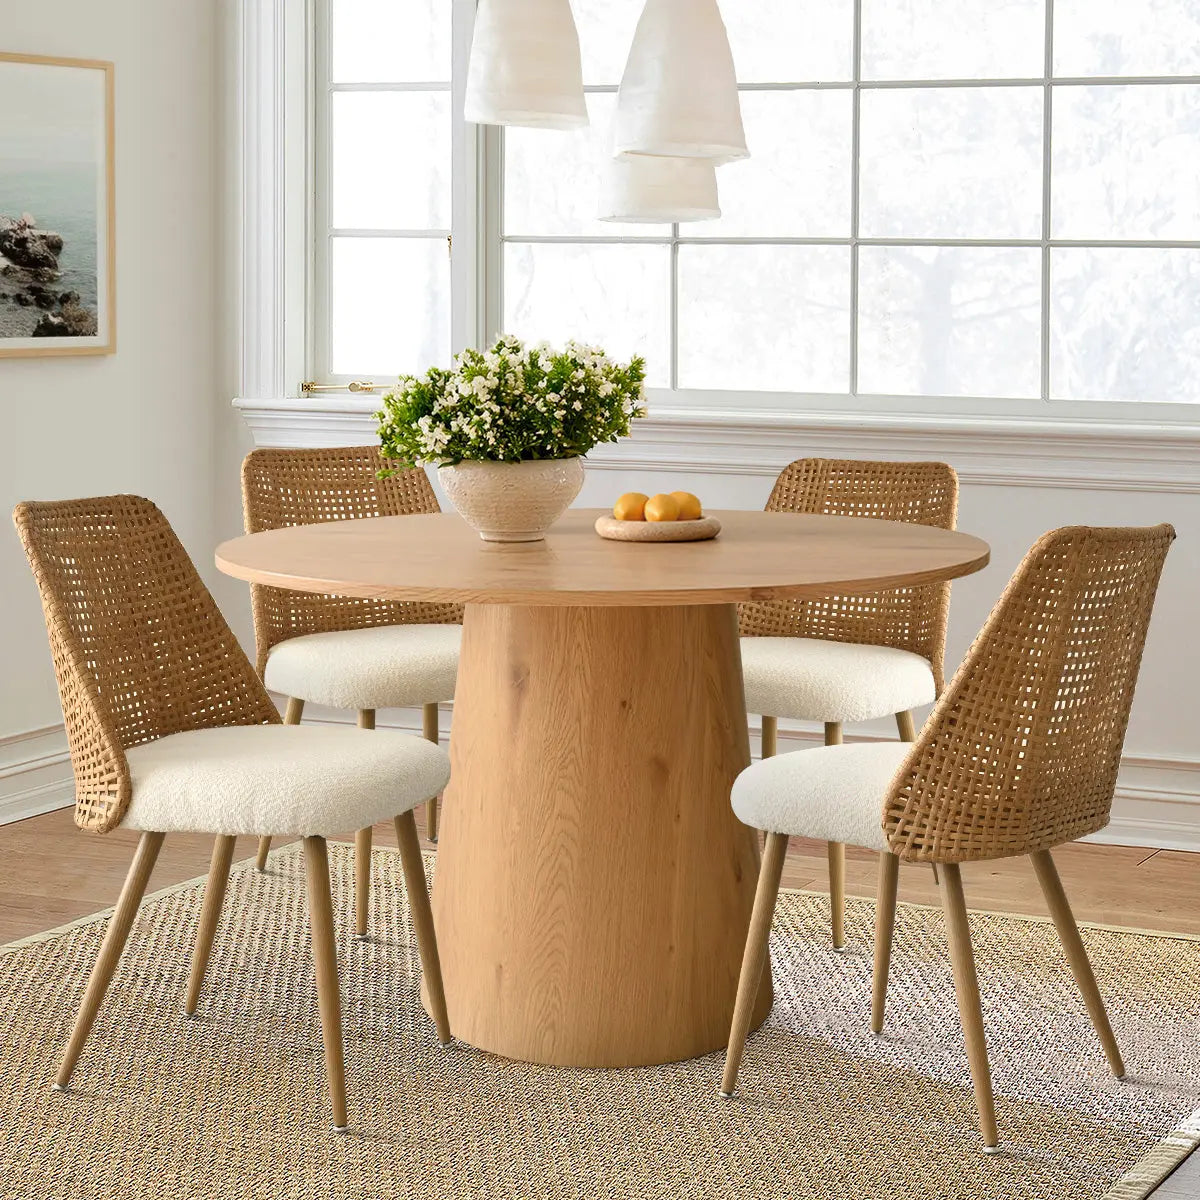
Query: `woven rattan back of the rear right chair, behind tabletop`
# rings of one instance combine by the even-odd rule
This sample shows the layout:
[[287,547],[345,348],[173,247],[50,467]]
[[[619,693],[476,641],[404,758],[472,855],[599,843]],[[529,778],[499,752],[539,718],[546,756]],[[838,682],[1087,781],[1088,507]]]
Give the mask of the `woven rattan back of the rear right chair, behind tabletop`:
[[[875,517],[953,529],[959,480],[943,462],[799,458],[785,467],[768,512]],[[890,588],[820,600],[766,600],[739,606],[746,637],[820,637],[894,646],[928,659],[938,691],[950,605],[949,583]]]

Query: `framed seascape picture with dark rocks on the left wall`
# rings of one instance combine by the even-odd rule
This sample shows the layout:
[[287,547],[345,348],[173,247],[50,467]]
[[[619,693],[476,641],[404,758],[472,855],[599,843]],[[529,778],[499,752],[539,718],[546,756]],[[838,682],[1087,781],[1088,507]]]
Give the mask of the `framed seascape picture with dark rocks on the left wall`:
[[0,53],[0,358],[116,348],[113,64]]

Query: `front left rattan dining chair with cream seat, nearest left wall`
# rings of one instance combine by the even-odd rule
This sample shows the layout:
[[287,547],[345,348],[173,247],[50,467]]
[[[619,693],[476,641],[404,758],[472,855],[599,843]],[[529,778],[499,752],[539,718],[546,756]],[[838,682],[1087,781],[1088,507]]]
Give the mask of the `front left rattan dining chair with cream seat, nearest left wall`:
[[240,834],[304,839],[308,920],[334,1126],[347,1126],[325,838],[391,817],[431,1009],[442,989],[413,809],[445,752],[402,733],[287,728],[166,517],[137,496],[32,503],[13,520],[42,596],[76,779],[76,824],[142,833],[55,1088],[66,1091],[168,833],[216,833],[185,1012],[196,1010]]

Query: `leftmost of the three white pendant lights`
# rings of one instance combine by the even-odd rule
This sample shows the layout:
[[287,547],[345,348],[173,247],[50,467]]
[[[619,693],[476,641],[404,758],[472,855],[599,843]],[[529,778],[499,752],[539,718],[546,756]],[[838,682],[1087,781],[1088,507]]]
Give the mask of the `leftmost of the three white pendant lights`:
[[463,116],[538,130],[588,124],[570,0],[479,0]]

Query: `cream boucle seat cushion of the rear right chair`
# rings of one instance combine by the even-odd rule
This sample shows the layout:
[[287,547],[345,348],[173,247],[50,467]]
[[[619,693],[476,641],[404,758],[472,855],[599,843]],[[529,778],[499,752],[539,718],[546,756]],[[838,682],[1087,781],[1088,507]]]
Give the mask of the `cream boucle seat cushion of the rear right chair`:
[[869,721],[937,698],[926,659],[893,646],[743,637],[746,712],[803,721]]

